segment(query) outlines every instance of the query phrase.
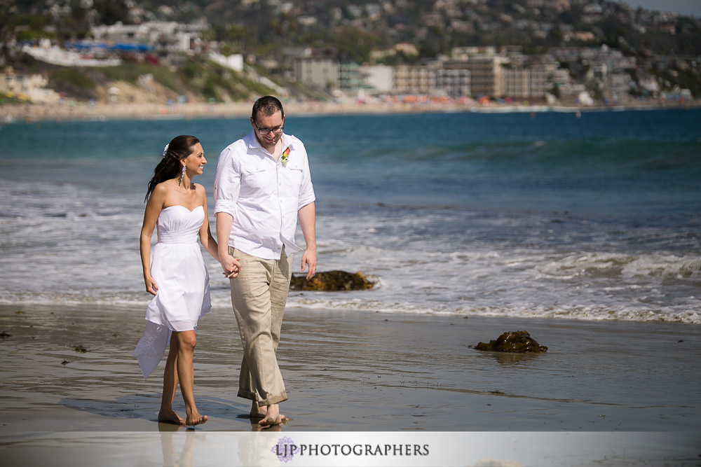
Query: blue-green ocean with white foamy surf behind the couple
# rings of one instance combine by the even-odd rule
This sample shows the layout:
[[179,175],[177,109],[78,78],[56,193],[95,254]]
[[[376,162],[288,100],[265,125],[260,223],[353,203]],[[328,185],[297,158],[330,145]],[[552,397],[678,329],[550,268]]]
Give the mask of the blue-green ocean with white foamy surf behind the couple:
[[[163,146],[202,141],[214,231],[219,151],[248,132],[247,118],[2,125],[0,303],[145,309],[139,232]],[[310,158],[319,270],[379,281],[292,292],[290,312],[701,324],[701,109],[289,115],[285,132]]]

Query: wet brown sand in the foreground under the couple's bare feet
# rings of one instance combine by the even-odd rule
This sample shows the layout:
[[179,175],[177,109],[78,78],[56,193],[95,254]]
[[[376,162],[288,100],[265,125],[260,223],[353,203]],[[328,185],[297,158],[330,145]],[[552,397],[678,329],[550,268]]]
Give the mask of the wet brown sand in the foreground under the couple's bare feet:
[[[4,450],[39,433],[177,430],[156,421],[164,361],[144,380],[130,355],[143,316],[143,307],[0,305]],[[549,349],[470,348],[508,330]],[[212,309],[195,351],[209,421],[195,433],[259,431],[236,397],[241,356],[233,313]],[[701,433],[700,326],[293,308],[278,360],[290,396],[283,433]],[[174,407],[184,414],[179,394]]]

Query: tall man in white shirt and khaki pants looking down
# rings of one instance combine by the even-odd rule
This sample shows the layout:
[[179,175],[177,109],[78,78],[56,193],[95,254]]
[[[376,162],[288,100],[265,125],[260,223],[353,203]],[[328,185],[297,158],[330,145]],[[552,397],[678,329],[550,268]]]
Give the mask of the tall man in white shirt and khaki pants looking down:
[[283,133],[283,104],[265,96],[253,104],[252,131],[219,155],[215,215],[219,258],[243,344],[238,396],[252,400],[261,426],[283,423],[287,400],[275,352],[292,277],[297,218],[306,242],[301,270],[316,271],[315,195],[306,149]]

